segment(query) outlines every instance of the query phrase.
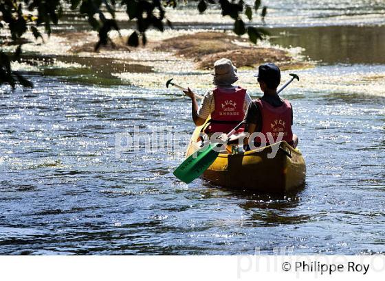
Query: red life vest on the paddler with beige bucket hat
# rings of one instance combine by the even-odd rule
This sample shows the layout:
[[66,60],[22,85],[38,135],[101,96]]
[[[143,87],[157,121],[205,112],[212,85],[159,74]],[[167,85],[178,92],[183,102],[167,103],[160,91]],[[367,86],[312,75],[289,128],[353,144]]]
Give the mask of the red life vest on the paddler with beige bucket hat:
[[[245,117],[243,105],[246,89],[239,86],[230,89],[216,87],[213,93],[215,108],[214,112],[211,112],[210,125],[205,132],[206,134],[216,132],[228,134]],[[239,132],[243,132],[243,128],[236,131],[236,133]]]

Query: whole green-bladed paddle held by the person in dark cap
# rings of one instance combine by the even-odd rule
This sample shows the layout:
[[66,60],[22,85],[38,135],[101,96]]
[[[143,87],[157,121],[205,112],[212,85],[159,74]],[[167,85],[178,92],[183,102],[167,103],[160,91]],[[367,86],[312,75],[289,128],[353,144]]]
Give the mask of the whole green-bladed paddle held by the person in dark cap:
[[[299,80],[298,75],[290,73],[290,76],[292,76],[292,79],[286,82],[285,85],[283,85],[277,93],[280,93],[284,88],[287,87],[290,83],[293,82],[294,79]],[[243,125],[244,121],[236,125],[234,129],[231,130],[227,134],[228,138],[232,136],[236,132],[236,130]],[[220,147],[221,143],[210,143],[205,149],[195,152],[195,154],[191,154],[188,156],[186,160],[184,160],[183,163],[177,167],[174,171],[175,177],[177,177],[182,182],[186,182],[186,184],[189,184],[193,180],[199,177],[210,165],[212,162],[214,162],[215,159],[217,159],[219,155],[219,149],[215,149],[216,147]]]

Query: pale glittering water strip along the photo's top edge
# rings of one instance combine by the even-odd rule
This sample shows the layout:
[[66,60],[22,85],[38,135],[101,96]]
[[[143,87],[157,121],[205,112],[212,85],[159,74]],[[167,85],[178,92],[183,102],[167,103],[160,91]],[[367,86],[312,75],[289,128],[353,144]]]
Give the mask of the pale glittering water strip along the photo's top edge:
[[[262,3],[267,5],[265,22],[270,27],[384,24],[385,3],[382,0],[265,0]],[[180,9],[168,10],[167,15],[175,27],[232,29],[230,16],[221,16],[219,10],[209,9],[199,14],[196,3],[192,2],[190,9],[178,5]],[[123,13],[117,17],[126,19]],[[261,24],[258,14],[254,15],[251,23]]]

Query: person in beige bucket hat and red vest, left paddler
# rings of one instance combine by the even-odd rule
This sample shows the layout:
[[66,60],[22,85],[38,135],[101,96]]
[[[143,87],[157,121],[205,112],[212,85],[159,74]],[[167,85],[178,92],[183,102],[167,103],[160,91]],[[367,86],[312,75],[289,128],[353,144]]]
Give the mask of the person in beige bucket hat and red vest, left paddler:
[[[208,135],[221,132],[227,134],[240,123],[252,101],[245,88],[233,86],[238,81],[236,67],[231,60],[221,58],[214,62],[212,84],[214,88],[208,90],[203,96],[201,106],[198,107],[194,93],[188,88],[184,93],[192,101],[192,120],[200,126],[211,115],[204,132]],[[242,132],[239,130],[239,132]]]

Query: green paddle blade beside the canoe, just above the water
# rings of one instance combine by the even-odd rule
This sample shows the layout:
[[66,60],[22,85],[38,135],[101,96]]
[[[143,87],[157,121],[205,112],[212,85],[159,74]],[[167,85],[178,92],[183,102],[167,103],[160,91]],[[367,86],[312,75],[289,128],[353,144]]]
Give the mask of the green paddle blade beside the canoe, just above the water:
[[174,171],[175,177],[186,184],[198,178],[217,159],[219,151],[214,150],[217,145],[217,143],[210,144],[203,151],[197,151],[195,155],[190,155]]

